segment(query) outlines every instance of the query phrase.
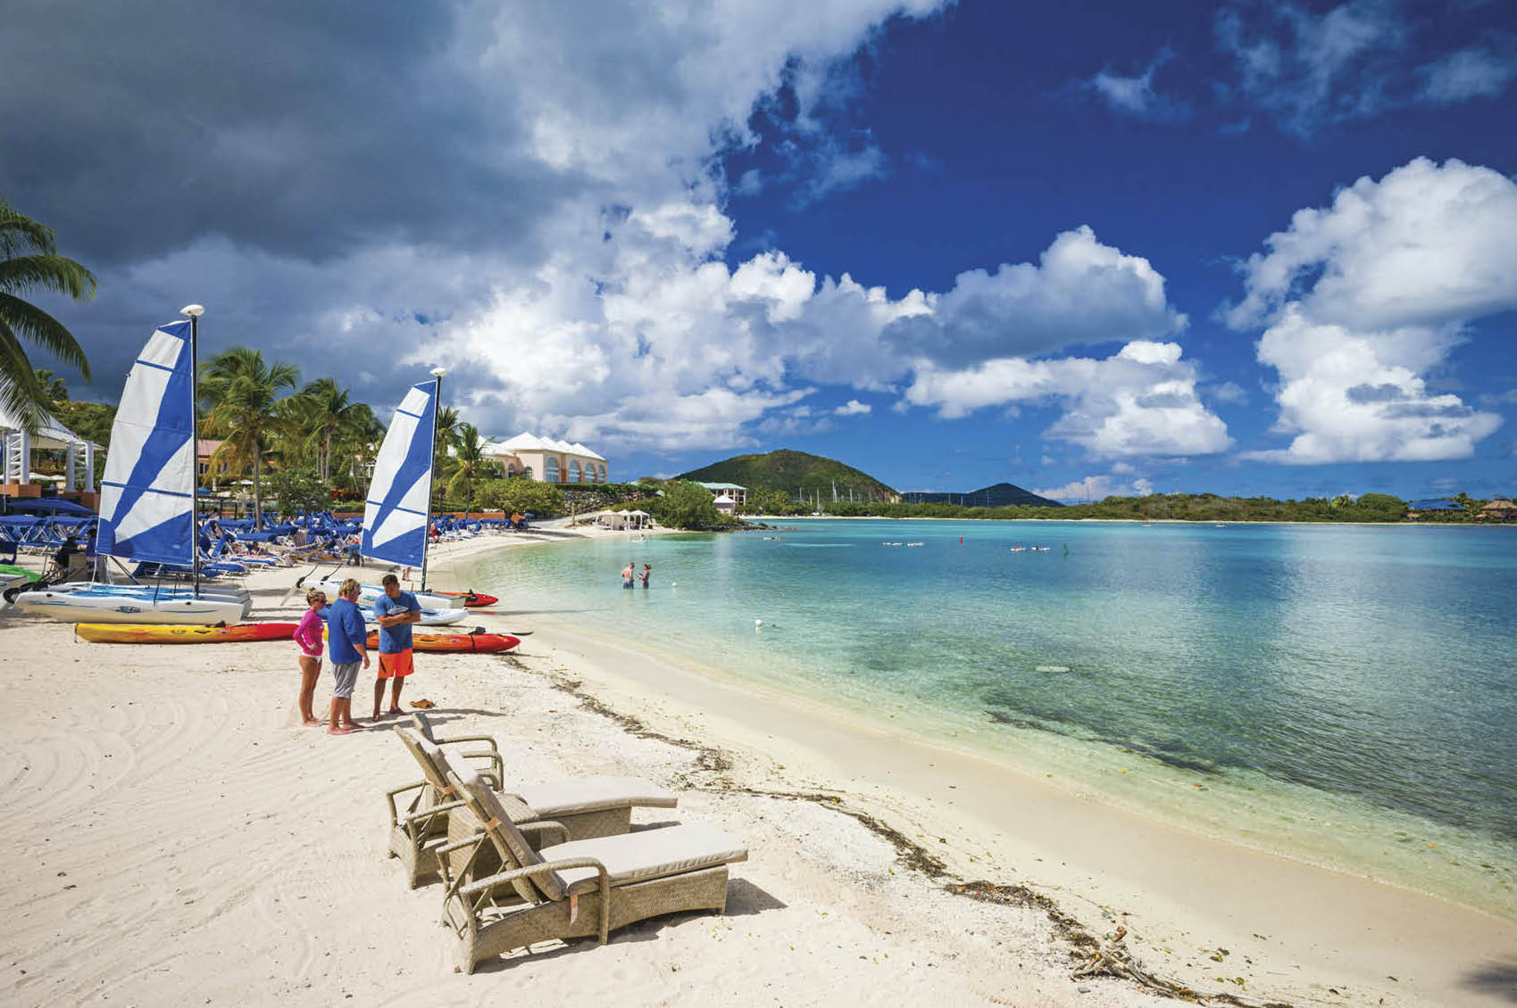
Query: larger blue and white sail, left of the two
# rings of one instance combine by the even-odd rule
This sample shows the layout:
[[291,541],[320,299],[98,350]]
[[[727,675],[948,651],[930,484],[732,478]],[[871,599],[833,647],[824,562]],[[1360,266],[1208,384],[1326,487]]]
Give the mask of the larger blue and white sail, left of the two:
[[100,481],[96,550],[194,562],[194,380],[190,321],[153,330],[121,390]]

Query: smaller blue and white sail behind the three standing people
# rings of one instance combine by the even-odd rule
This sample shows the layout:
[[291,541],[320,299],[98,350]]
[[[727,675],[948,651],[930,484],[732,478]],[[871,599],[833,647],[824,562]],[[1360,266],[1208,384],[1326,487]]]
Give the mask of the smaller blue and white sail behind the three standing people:
[[363,553],[420,567],[432,493],[437,382],[413,385],[384,435],[364,502]]

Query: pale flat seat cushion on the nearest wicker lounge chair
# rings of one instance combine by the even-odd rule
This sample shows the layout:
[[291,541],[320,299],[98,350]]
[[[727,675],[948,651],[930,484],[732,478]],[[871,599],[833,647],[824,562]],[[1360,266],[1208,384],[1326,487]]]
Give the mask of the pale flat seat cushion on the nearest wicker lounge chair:
[[[748,859],[746,847],[721,829],[704,823],[661,826],[620,837],[570,840],[543,847],[539,853],[545,861],[595,858],[605,866],[613,887]],[[596,891],[601,878],[595,869],[564,869],[554,875],[563,891],[570,896]]]

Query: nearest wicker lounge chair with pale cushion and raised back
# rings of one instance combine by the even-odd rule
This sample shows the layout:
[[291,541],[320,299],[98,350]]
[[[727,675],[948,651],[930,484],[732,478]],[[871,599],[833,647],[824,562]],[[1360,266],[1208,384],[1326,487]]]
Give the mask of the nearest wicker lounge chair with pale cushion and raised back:
[[[443,756],[446,764],[448,758]],[[648,917],[727,908],[727,866],[748,850],[719,829],[698,823],[643,829],[620,837],[572,840],[532,847],[510,809],[470,769],[444,765],[484,831],[440,850],[443,923],[458,935],[458,967],[473,973],[482,959],[539,941],[607,935]],[[539,835],[552,832],[545,823]],[[464,872],[451,869],[451,849],[467,850]],[[490,850],[501,870],[479,876],[475,855]]]

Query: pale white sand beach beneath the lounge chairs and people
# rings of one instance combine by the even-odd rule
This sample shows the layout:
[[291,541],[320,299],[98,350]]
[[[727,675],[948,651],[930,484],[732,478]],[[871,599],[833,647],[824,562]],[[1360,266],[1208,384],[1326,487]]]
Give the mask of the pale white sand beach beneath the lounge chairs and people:
[[[470,555],[551,538],[448,544],[434,584],[470,587]],[[276,606],[300,573],[247,579],[261,618],[297,612]],[[384,790],[417,778],[394,722],[338,738],[300,726],[288,643],[85,644],[6,609],[5,1003],[1168,1002],[1071,979],[1082,943],[1118,926],[1154,975],[1241,1003],[1512,1003],[1511,920],[510,615],[529,608],[505,597],[478,618],[529,620],[517,655],[419,655],[405,699],[432,700],[448,734],[498,737],[520,781],[678,790],[678,809],[637,822],[701,820],[746,843],[724,916],[457,973],[440,887],[407,888],[385,856]],[[329,685],[323,671],[319,708]],[[954,891],[981,881],[980,899]]]

